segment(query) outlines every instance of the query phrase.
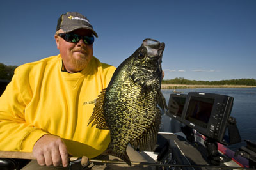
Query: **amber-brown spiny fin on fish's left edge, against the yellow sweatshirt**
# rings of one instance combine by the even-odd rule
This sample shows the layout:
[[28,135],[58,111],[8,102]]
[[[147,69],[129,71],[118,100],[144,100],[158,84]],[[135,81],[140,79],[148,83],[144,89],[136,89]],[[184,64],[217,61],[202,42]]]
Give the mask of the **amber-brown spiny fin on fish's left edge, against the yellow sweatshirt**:
[[104,96],[105,96],[106,89],[104,89],[100,95],[99,98],[97,98],[95,107],[93,108],[92,116],[89,119],[88,125],[92,123],[92,127],[96,125],[99,129],[108,130],[108,127],[106,125],[106,118],[104,116],[104,110],[103,110],[103,102],[104,102]]

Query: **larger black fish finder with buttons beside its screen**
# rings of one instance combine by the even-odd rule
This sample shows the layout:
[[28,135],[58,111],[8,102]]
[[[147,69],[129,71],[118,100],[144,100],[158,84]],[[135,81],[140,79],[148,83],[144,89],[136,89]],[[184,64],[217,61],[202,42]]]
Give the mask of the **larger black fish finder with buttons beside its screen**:
[[200,134],[227,144],[225,135],[234,98],[213,93],[190,92],[182,112],[181,122]]

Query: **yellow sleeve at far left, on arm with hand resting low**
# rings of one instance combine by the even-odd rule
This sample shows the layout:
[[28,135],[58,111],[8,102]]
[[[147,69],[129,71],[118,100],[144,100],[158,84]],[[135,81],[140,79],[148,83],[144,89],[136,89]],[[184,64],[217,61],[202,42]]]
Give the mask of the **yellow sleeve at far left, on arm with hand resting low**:
[[36,141],[47,134],[26,123],[24,111],[33,97],[27,77],[17,68],[0,97],[0,150],[31,152]]

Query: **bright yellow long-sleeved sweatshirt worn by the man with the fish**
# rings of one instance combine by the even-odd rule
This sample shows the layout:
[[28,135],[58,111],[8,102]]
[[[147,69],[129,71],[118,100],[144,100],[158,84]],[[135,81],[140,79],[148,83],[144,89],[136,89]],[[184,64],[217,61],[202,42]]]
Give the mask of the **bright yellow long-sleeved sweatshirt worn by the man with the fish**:
[[0,150],[33,150],[44,134],[60,136],[74,157],[106,150],[108,130],[87,126],[95,99],[115,67],[92,58],[78,73],[61,71],[60,54],[19,66],[0,97]]

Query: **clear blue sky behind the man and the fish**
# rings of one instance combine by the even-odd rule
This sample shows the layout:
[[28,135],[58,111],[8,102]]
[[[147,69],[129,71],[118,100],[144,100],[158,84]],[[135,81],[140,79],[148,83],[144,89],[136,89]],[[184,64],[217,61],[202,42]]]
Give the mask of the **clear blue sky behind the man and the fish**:
[[58,54],[58,17],[76,11],[97,31],[94,56],[104,63],[118,66],[154,38],[166,43],[164,79],[256,79],[255,9],[255,0],[3,1],[0,63]]

